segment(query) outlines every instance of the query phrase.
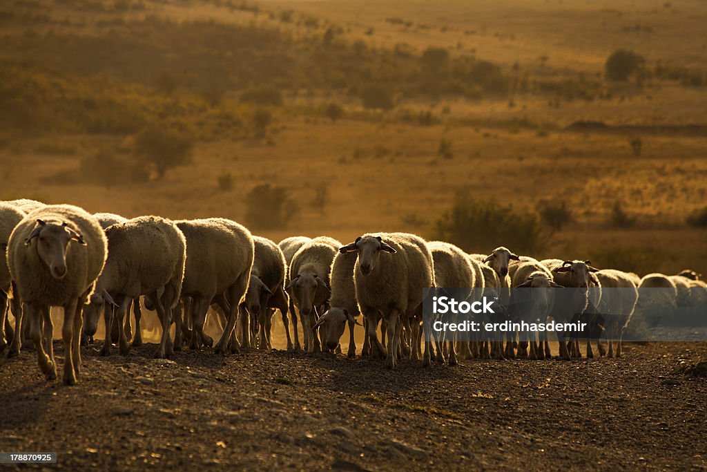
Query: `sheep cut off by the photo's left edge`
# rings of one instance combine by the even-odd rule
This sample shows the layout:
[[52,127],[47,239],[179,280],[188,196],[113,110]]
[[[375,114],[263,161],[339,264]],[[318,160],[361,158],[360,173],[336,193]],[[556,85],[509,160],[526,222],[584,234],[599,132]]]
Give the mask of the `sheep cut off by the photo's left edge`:
[[[5,347],[7,345],[7,342],[5,340],[6,337],[7,340],[11,343],[13,343],[12,340],[14,338],[13,329],[10,326],[10,322],[7,318],[9,309],[8,294],[10,293],[10,287],[12,282],[10,270],[7,267],[7,243],[10,240],[12,230],[15,229],[15,226],[17,226],[17,224],[22,221],[24,217],[25,212],[23,212],[15,205],[0,202],[0,352],[5,350]],[[13,311],[13,315],[15,316],[15,323],[17,328],[16,333],[20,334],[22,332],[20,326],[22,311],[19,300],[16,299],[16,297],[11,301],[11,308]],[[20,338],[21,336],[18,336],[18,339],[14,342],[13,348],[16,349],[16,352],[13,352],[13,349],[11,349],[13,355],[19,354],[21,345]]]

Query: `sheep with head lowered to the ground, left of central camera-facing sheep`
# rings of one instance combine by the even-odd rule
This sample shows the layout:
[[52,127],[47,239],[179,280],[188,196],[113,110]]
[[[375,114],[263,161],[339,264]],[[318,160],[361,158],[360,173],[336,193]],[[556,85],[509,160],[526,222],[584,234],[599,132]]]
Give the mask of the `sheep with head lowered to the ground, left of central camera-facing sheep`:
[[[322,346],[334,351],[344,334],[346,324],[349,325],[348,357],[356,357],[356,340],[354,340],[354,325],[361,326],[356,316],[361,314],[356,302],[356,285],[354,284],[354,266],[358,253],[341,253],[337,251],[332,262],[330,278],[332,294],[329,297],[329,309],[320,316],[312,329],[320,328]],[[361,354],[369,353],[368,338],[364,340]]]

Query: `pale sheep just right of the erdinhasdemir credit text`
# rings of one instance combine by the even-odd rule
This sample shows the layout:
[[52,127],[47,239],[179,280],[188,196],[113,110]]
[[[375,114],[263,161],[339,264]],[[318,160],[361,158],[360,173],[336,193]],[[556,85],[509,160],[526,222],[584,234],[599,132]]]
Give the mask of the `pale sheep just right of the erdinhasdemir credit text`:
[[633,277],[621,270],[602,269],[595,272],[602,287],[602,298],[597,311],[604,318],[609,343],[608,357],[614,357],[613,345],[616,343],[616,355],[621,357],[621,338],[631,321],[633,309],[638,301],[638,288]]

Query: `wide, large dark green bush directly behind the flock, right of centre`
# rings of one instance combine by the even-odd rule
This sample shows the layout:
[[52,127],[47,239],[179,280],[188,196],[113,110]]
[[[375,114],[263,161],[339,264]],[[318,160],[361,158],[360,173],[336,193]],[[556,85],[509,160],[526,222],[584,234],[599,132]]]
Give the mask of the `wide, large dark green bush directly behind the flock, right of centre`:
[[495,200],[476,200],[466,192],[435,222],[431,239],[449,241],[469,253],[507,246],[521,253],[537,253],[544,238],[535,214],[515,211]]

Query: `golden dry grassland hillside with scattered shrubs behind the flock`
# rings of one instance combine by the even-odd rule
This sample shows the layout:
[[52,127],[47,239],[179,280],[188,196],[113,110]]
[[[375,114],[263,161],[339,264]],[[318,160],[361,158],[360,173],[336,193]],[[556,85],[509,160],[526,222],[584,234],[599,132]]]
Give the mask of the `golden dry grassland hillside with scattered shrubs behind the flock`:
[[[494,234],[538,255],[699,270],[706,19],[694,1],[16,1],[0,198],[346,240],[435,236],[466,195],[512,207],[525,226]],[[619,49],[643,58],[626,81],[604,71]],[[296,216],[254,217],[268,191]]]

